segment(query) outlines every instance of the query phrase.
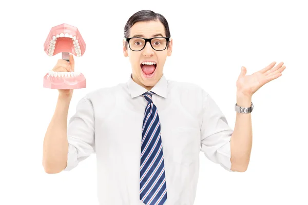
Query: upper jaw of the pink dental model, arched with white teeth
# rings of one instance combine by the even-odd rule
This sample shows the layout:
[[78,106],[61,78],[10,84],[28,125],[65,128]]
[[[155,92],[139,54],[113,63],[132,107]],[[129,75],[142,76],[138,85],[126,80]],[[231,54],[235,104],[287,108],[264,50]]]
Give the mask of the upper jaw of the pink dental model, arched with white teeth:
[[86,44],[76,27],[61,24],[51,28],[44,44],[44,50],[49,56],[68,52],[81,57],[86,50]]

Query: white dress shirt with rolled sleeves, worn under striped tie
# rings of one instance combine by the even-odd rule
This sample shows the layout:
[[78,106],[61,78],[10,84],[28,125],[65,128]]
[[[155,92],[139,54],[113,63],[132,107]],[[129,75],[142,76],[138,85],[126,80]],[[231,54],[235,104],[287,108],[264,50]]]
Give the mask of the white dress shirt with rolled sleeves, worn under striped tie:
[[[232,172],[233,130],[215,101],[201,87],[165,75],[150,90],[158,109],[165,163],[164,205],[192,205],[199,177],[199,153]],[[98,199],[101,205],[141,205],[140,151],[145,88],[131,74],[127,83],[85,95],[68,124],[65,171],[90,154],[97,156]]]

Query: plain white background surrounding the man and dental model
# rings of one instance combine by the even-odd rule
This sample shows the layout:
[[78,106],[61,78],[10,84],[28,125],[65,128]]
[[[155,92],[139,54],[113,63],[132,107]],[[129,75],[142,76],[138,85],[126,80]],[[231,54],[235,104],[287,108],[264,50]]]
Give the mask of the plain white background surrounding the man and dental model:
[[[287,3],[286,3],[287,2]],[[229,173],[200,153],[195,204],[308,204],[307,57],[305,1],[5,1],[0,7],[0,204],[97,204],[95,155],[70,172],[46,174],[43,140],[57,90],[43,77],[61,54],[43,44],[51,27],[78,27],[86,52],[75,71],[87,88],[75,90],[69,117],[86,93],[128,79],[123,56],[124,25],[143,9],[164,15],[174,50],[167,79],[202,86],[234,128],[236,80],[272,61],[286,65],[282,76],[253,95],[253,150],[245,173]],[[107,5],[108,4],[108,5]],[[194,204],[194,205],[195,205]]]

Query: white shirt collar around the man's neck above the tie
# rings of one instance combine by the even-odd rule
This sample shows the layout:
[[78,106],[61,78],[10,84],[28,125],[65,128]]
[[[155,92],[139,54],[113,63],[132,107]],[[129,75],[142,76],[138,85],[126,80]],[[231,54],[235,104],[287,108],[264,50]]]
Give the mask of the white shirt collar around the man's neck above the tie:
[[[130,96],[132,98],[140,96],[145,92],[148,92],[147,89],[145,89],[144,87],[140,86],[135,81],[133,81],[132,74],[129,75],[127,87],[130,92]],[[157,84],[153,86],[153,88],[149,91],[152,91],[153,93],[166,98],[167,97],[167,87],[168,87],[168,81],[165,75],[163,74],[160,80],[157,82]]]

